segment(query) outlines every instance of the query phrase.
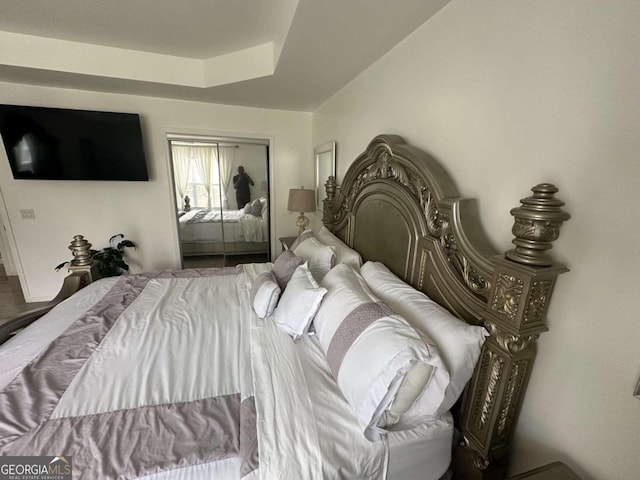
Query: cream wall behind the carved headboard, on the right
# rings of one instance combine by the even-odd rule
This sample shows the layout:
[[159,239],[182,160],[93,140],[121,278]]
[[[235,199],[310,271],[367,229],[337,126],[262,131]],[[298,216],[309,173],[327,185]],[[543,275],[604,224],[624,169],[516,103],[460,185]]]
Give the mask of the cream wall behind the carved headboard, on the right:
[[550,331],[512,472],[564,460],[585,479],[640,472],[640,3],[453,0],[313,116],[338,180],[379,133],[445,163],[500,250],[540,182],[567,202]]

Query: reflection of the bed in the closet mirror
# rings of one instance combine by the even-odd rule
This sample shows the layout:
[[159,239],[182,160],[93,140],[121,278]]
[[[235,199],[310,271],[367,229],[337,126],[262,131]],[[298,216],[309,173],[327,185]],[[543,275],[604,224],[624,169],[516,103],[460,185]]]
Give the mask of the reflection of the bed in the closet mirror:
[[191,210],[179,218],[182,255],[267,252],[268,224],[264,197],[240,210]]

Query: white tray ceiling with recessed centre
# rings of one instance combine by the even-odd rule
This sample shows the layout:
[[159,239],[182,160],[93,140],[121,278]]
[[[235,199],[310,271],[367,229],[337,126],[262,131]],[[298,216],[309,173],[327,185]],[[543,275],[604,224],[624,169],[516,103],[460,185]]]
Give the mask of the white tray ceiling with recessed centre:
[[448,0],[0,0],[0,81],[312,111]]

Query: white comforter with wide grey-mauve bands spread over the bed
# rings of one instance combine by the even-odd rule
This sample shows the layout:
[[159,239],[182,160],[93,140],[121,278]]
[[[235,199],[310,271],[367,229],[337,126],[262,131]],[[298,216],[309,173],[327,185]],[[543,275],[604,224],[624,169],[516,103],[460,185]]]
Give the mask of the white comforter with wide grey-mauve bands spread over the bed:
[[233,269],[86,287],[0,347],[0,454],[71,455],[74,478],[383,478],[315,341],[248,303]]

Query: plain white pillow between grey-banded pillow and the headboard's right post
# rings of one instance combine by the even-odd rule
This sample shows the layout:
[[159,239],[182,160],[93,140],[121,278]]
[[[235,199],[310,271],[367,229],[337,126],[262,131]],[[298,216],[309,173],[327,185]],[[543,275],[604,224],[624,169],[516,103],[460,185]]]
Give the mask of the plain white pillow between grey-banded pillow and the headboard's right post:
[[367,262],[360,273],[375,295],[435,341],[451,376],[437,415],[448,411],[473,375],[488,332],[456,318],[424,293],[404,283],[382,263]]

